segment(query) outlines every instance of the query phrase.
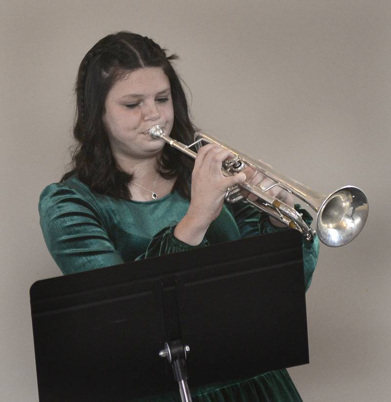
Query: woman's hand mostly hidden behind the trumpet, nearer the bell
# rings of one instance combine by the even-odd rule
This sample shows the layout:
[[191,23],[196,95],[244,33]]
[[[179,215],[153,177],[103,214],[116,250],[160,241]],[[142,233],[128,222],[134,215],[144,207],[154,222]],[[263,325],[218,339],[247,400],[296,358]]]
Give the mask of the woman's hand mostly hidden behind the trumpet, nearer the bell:
[[[251,184],[252,186],[258,185],[259,187],[261,187],[262,190],[267,190],[271,186],[273,186],[273,184],[276,183],[269,177],[265,176],[264,174],[262,174],[261,172],[259,172],[257,170],[254,170],[253,168],[246,167],[243,169],[243,171],[247,177],[246,182],[248,184]],[[242,190],[241,194],[253,202],[258,199],[258,197],[256,195],[250,193],[247,190]],[[293,195],[290,192],[283,190],[281,187],[274,186],[270,190],[267,190],[266,194],[269,195],[270,197],[277,198],[279,201],[283,202],[284,204],[289,205],[292,208],[294,207]],[[270,216],[270,222],[274,226],[277,226],[277,227],[285,226],[282,222],[280,222],[279,220],[277,220],[271,216]]]

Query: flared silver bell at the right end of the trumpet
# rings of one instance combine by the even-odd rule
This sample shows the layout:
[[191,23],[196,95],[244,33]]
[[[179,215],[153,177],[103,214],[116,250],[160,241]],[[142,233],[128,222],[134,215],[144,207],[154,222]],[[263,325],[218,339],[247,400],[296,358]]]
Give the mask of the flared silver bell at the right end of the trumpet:
[[368,199],[362,190],[354,186],[342,187],[331,193],[321,205],[316,234],[326,246],[344,246],[361,232],[368,212]]

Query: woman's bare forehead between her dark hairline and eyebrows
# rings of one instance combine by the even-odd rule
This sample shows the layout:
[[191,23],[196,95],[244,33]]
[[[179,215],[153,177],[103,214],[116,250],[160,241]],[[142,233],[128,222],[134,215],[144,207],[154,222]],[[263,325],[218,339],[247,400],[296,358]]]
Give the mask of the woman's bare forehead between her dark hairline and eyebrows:
[[138,68],[118,79],[110,88],[108,97],[148,96],[167,88],[170,88],[170,81],[161,67]]

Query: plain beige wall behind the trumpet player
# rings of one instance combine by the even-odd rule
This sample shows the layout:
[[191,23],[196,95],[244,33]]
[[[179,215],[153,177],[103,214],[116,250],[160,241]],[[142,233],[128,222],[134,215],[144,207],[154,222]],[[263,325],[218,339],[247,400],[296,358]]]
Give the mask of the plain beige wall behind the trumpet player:
[[[104,35],[180,55],[198,127],[315,190],[354,184],[369,220],[321,248],[304,401],[390,401],[390,1],[0,1],[0,395],[37,401],[29,287],[60,275],[37,203],[69,161],[78,64]],[[264,345],[267,347],[267,345]]]

